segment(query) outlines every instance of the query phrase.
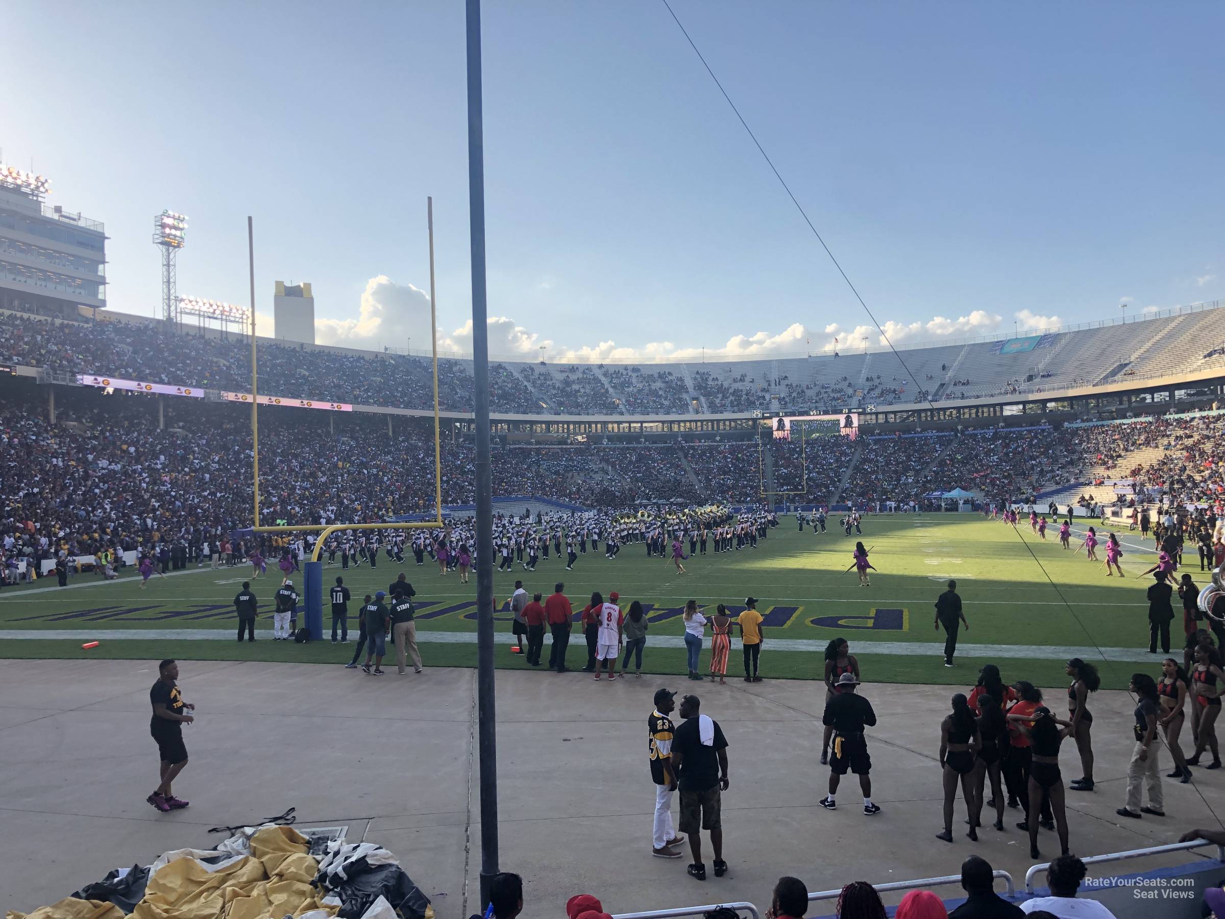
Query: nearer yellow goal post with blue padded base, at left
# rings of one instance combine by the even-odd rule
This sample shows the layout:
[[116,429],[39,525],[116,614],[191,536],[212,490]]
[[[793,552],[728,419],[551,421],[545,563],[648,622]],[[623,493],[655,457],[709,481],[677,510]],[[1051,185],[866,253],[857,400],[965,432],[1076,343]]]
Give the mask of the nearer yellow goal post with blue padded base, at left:
[[434,301],[434,199],[426,199],[426,224],[430,236],[430,339],[434,364],[434,520],[410,521],[402,523],[304,523],[266,527],[260,523],[260,391],[257,388],[256,326],[255,326],[255,233],[252,221],[246,218],[247,261],[251,276],[251,472],[254,475],[252,494],[255,496],[254,533],[292,533],[316,532],[318,539],[310,561],[304,567],[304,589],[306,604],[306,629],[312,641],[323,637],[323,562],[320,551],[330,535],[345,529],[436,529],[445,526],[442,521],[442,442],[440,440],[439,414],[439,321]]

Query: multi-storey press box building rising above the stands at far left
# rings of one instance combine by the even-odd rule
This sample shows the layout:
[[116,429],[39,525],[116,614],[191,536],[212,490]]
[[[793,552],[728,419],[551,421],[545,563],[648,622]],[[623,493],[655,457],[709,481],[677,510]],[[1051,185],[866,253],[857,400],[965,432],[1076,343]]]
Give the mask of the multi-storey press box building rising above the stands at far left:
[[44,203],[49,185],[0,165],[0,309],[76,316],[78,305],[107,305],[107,234]]

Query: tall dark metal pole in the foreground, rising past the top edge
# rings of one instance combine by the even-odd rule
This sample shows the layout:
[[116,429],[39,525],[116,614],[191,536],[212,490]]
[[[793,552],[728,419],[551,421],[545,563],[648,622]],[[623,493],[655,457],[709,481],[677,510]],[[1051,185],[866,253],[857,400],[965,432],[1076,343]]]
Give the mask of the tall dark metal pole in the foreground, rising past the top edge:
[[[485,138],[480,0],[467,0],[468,224],[472,239],[472,376],[477,424],[477,738],[480,754],[480,909],[497,874],[497,750],[494,714],[494,485],[489,457],[489,322],[485,303]],[[541,350],[543,359],[543,350]]]

